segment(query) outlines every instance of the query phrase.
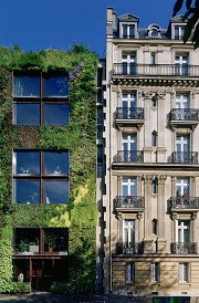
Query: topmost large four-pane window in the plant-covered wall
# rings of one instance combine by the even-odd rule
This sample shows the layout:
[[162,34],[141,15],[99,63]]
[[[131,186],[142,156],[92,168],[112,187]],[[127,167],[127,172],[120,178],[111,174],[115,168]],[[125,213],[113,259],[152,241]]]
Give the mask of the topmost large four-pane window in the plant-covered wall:
[[17,125],[67,125],[66,75],[13,75],[13,123]]

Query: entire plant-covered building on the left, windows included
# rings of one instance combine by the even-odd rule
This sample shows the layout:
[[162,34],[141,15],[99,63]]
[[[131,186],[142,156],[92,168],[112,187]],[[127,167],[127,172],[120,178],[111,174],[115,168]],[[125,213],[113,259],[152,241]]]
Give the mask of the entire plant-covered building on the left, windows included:
[[0,53],[0,292],[94,291],[97,58]]

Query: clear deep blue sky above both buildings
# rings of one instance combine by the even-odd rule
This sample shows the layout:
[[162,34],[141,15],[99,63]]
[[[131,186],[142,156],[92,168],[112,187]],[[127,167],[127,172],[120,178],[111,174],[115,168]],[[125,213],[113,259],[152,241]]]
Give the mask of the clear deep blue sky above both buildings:
[[[69,50],[83,43],[105,56],[106,8],[139,17],[139,27],[167,28],[176,0],[0,0],[0,45]],[[184,11],[182,11],[184,12]]]

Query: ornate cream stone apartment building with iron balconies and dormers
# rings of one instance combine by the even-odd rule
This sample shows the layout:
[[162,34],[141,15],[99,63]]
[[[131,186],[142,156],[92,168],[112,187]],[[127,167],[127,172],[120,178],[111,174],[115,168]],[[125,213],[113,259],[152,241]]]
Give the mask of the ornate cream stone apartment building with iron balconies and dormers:
[[182,42],[186,22],[140,29],[107,8],[97,184],[105,293],[199,296],[199,50]]

